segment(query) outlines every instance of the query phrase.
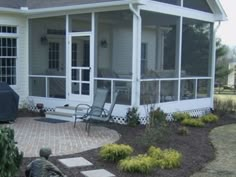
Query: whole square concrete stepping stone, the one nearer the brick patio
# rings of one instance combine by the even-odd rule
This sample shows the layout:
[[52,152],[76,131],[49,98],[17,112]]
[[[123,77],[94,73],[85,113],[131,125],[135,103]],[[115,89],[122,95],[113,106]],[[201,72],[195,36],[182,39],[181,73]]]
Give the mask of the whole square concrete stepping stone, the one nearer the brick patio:
[[59,161],[64,164],[65,166],[72,168],[72,167],[84,167],[84,166],[91,166],[93,165],[91,162],[86,160],[83,157],[75,157],[75,158],[66,158],[66,159],[59,159]]

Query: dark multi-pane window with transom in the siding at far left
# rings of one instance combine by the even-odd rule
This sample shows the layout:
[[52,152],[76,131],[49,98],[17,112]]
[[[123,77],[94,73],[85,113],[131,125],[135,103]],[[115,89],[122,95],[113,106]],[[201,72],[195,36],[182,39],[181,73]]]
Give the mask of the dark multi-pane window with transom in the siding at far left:
[[[13,27],[0,26],[1,33],[10,33]],[[6,82],[9,85],[16,84],[16,56],[17,56],[16,38],[0,37],[0,82]]]

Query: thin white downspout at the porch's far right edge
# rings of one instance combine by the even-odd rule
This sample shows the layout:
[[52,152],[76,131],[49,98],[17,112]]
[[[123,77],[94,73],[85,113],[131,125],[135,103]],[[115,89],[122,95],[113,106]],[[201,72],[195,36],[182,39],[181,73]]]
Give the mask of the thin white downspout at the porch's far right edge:
[[213,30],[213,47],[212,47],[212,83],[211,83],[211,105],[212,109],[214,110],[214,90],[215,90],[215,66],[216,66],[216,32],[221,25],[221,21],[218,21],[218,25]]

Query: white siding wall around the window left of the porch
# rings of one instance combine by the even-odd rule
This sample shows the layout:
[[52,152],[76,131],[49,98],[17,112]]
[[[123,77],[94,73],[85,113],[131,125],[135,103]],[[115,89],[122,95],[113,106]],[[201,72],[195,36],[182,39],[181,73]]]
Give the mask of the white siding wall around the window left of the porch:
[[[25,17],[0,13],[0,26],[16,27],[1,28],[8,34],[1,33],[0,37],[12,36],[16,39],[16,85],[11,87],[20,95],[20,101],[28,96],[28,23]],[[15,31],[16,30],[16,31]],[[16,34],[14,34],[17,32]]]

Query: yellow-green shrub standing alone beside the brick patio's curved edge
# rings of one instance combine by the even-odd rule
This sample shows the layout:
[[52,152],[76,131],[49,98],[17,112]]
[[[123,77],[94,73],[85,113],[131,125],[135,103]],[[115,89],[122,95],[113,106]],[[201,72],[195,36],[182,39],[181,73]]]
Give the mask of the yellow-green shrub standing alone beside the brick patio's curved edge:
[[102,159],[112,162],[118,162],[126,158],[133,152],[133,148],[124,144],[107,144],[100,150]]

